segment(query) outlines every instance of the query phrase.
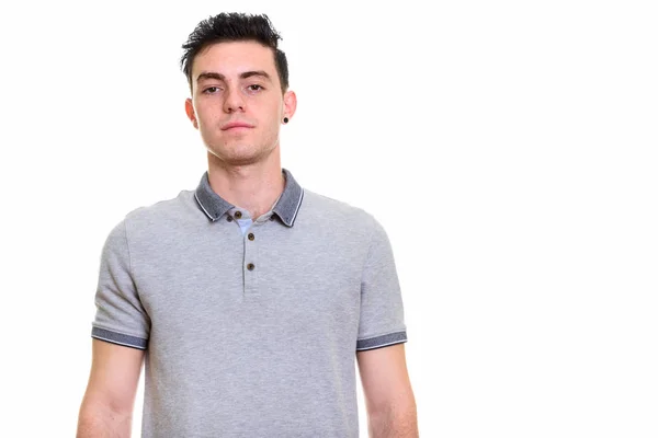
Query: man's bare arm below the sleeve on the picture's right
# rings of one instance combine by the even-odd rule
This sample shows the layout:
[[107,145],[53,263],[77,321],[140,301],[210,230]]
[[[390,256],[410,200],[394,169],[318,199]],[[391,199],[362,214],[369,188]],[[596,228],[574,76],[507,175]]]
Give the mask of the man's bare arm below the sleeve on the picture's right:
[[416,400],[405,344],[356,351],[371,438],[417,438]]

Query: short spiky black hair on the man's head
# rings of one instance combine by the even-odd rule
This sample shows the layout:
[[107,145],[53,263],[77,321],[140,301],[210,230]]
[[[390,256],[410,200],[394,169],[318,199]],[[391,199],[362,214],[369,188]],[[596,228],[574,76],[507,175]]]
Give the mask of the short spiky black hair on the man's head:
[[192,89],[192,64],[202,49],[215,43],[254,41],[274,51],[274,66],[279,73],[281,89],[285,92],[288,88],[287,59],[277,47],[279,39],[281,36],[265,14],[223,12],[202,21],[190,34],[188,42],[183,44],[185,51],[181,57],[181,69],[188,77],[190,89]]

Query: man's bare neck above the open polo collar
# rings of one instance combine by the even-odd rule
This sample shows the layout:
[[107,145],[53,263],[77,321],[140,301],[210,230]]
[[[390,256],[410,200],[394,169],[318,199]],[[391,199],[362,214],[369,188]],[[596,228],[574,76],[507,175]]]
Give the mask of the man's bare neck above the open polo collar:
[[285,177],[280,160],[226,165],[208,157],[211,188],[228,203],[249,211],[252,220],[268,212],[283,193]]

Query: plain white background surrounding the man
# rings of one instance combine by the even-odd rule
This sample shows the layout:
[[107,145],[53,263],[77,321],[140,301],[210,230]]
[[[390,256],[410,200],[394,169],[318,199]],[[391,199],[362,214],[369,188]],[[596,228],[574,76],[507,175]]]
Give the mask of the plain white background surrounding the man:
[[650,2],[280,3],[1,7],[0,436],[75,435],[102,243],[205,170],[178,61],[222,11],[283,36],[282,164],[388,232],[421,437],[658,436]]

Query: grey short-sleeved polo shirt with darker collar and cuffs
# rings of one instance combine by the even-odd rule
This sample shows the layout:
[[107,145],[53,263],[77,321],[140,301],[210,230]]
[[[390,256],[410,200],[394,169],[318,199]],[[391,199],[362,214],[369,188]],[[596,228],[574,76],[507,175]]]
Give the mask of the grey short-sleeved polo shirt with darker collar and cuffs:
[[146,350],[143,437],[359,436],[355,351],[407,341],[390,243],[282,172],[245,233],[207,172],[110,232],[92,336]]

